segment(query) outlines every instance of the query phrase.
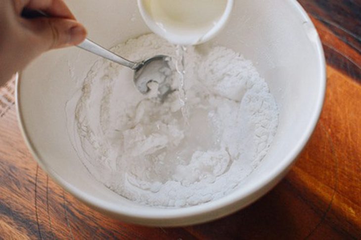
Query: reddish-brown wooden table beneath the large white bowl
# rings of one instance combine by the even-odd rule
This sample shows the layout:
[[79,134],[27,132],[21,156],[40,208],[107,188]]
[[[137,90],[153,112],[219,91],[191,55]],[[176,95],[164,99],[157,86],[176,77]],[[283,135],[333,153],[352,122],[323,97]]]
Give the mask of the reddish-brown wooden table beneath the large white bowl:
[[361,239],[361,0],[300,0],[327,59],[327,93],[307,148],[269,194],[185,228],[125,224],[39,168],[21,137],[14,80],[0,88],[0,239]]

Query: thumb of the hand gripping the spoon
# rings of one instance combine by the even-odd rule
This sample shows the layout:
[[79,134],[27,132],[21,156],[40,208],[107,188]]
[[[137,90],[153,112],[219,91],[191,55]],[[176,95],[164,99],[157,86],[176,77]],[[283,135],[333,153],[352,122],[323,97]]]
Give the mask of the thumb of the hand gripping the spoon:
[[31,20],[38,50],[77,45],[87,37],[87,30],[76,20],[38,18]]

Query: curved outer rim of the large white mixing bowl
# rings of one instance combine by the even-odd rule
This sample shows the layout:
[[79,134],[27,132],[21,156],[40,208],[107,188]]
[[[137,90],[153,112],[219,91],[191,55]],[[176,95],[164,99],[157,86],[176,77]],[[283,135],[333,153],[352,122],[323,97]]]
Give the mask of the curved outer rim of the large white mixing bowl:
[[[301,4],[297,2],[297,0],[288,0],[288,2],[291,3],[291,7],[293,7],[295,12],[302,17],[303,21],[310,23],[312,29],[316,31],[313,22]],[[241,191],[234,191],[218,200],[185,208],[149,207],[149,209],[136,209],[122,207],[120,204],[109,203],[106,200],[93,197],[92,195],[83,192],[81,189],[74,187],[46,164],[46,161],[40,157],[38,150],[33,145],[24,122],[24,116],[22,115],[22,106],[20,101],[21,74],[17,73],[15,83],[15,102],[20,131],[32,156],[35,160],[37,160],[42,169],[45,170],[45,172],[67,192],[98,211],[107,213],[112,217],[126,222],[149,226],[184,226],[214,220],[244,208],[265,195],[279,180],[281,180],[283,175],[287,173],[290,166],[294,163],[309,141],[320,117],[326,91],[326,63],[318,33],[314,44],[316,46],[317,61],[320,66],[320,88],[315,103],[315,112],[312,114],[312,118],[310,119],[303,136],[299,139],[288,155],[282,159],[267,175],[255,180],[252,184],[245,186]]]

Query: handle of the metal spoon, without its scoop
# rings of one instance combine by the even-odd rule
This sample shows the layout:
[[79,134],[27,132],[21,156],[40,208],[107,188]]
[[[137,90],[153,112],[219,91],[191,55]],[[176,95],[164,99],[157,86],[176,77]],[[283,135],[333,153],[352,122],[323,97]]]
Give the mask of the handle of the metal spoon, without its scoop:
[[[25,8],[22,11],[21,16],[24,18],[48,17],[48,15],[43,11],[27,9],[27,8]],[[136,67],[138,66],[137,63],[129,61],[129,60],[109,51],[108,49],[96,44],[95,42],[93,42],[92,40],[89,40],[89,39],[84,40],[82,43],[80,43],[78,45],[78,47],[80,47],[84,50],[87,50],[100,57],[106,58],[110,61],[119,63],[128,68],[131,68],[133,70],[135,70]]]

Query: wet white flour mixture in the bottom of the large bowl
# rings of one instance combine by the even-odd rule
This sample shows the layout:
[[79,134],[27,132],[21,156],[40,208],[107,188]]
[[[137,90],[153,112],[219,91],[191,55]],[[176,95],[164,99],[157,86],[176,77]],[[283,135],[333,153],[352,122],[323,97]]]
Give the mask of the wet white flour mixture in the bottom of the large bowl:
[[[174,56],[176,47],[150,34],[112,50],[136,60]],[[137,91],[125,67],[98,61],[84,80],[75,148],[98,181],[129,200],[183,207],[219,199],[271,145],[278,109],[252,63],[225,47],[188,47],[184,58],[188,124],[177,91],[159,103]]]

